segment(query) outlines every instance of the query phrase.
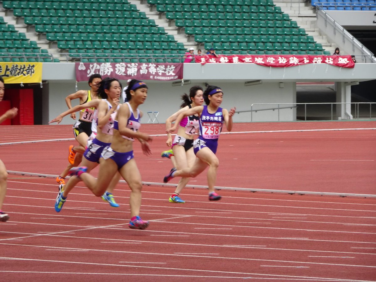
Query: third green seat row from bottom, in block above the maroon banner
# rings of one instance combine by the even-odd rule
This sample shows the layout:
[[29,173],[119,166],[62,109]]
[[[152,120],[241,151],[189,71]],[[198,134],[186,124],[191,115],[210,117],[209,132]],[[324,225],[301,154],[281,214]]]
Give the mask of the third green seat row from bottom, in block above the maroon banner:
[[67,49],[123,49],[123,50],[185,50],[183,43],[175,42],[113,42],[113,41],[58,41],[58,48]]

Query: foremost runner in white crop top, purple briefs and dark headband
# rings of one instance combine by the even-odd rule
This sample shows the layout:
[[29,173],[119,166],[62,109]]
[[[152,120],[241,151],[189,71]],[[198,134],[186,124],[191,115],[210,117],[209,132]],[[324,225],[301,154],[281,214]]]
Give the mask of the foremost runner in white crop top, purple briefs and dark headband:
[[[70,171],[71,175],[73,175],[71,178],[81,179],[92,193],[98,197],[106,191],[109,180],[119,171],[131,190],[129,197],[131,216],[129,228],[133,229],[145,229],[149,226],[148,221],[144,221],[139,217],[142,182],[136,161],[133,158],[133,141],[135,139],[140,141],[144,154],[151,155],[147,141],[151,141],[152,137],[139,132],[142,112],[139,111],[138,106],[145,102],[147,91],[147,85],[142,81],[132,79],[129,83],[129,87],[126,90],[129,102],[121,105],[117,112],[114,120],[114,136],[111,146],[103,150],[102,158],[100,158],[98,179],[86,173],[87,167],[76,167]],[[56,201],[56,206],[61,209],[64,202],[65,194]]]

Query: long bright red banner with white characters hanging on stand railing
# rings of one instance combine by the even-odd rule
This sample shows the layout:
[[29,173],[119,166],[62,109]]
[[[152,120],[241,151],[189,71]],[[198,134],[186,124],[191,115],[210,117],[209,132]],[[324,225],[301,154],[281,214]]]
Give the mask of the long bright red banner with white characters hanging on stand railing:
[[253,63],[265,67],[295,67],[306,64],[328,64],[336,67],[353,68],[355,63],[351,55],[196,55],[196,63]]

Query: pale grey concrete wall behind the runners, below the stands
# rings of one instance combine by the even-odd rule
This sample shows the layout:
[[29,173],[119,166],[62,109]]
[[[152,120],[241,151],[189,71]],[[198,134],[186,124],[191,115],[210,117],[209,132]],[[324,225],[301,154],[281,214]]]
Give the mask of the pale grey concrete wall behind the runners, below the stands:
[[[205,83],[194,81],[189,85],[171,86],[171,82],[154,82],[148,81],[149,92],[146,102],[140,106],[144,112],[143,123],[147,123],[149,116],[147,112],[159,112],[158,120],[164,123],[165,120],[179,109],[180,95],[189,94],[189,89],[193,85],[200,85],[205,89]],[[296,89],[295,83],[284,83],[284,88],[280,88],[279,83],[265,83],[253,86],[244,86],[244,83],[223,82],[217,83],[224,91],[222,107],[230,109],[235,106],[237,111],[249,111],[254,103],[295,103]],[[77,83],[78,89],[88,89],[86,82]],[[65,97],[76,92],[75,82],[50,82],[49,83],[49,110],[44,109],[48,115],[48,120],[52,120],[60,113],[67,110]],[[73,100],[72,105],[78,104],[78,99]],[[285,105],[284,105],[285,106]],[[277,108],[277,105],[259,105],[254,109]],[[277,111],[258,111],[253,112],[253,121],[274,121],[278,120]],[[293,109],[280,110],[280,120],[295,120],[296,113]],[[234,121],[251,121],[251,113],[236,114]],[[72,124],[72,119],[67,116],[61,124]]]

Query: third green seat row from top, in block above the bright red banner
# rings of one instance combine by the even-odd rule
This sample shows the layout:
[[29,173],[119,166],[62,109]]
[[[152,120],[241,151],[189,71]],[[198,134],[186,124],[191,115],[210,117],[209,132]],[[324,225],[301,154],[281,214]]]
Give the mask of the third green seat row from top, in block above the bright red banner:
[[270,13],[216,13],[216,12],[167,12],[168,20],[275,20],[290,21],[288,14]]

